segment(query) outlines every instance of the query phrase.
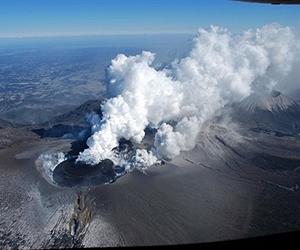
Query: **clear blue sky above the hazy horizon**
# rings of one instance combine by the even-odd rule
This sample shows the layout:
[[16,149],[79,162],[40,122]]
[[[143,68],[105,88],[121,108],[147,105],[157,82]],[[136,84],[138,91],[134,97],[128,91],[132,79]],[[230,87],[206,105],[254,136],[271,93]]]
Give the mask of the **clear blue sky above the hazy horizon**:
[[300,6],[230,0],[1,0],[0,37],[195,33],[270,22],[300,28]]

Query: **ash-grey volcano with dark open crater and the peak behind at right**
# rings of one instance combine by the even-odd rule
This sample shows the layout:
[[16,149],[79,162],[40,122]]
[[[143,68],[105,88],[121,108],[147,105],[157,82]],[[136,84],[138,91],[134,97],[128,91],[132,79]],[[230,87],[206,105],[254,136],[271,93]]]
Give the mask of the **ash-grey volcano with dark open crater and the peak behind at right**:
[[[145,244],[143,239],[149,239],[149,244],[188,243],[299,230],[300,141],[253,130],[257,126],[293,128],[291,124],[299,121],[298,106],[288,96],[273,92],[235,104],[232,116],[240,120],[246,135],[226,124],[210,124],[201,131],[193,150],[147,169],[146,174],[123,175],[124,169],[109,160],[93,166],[76,162],[87,147],[86,138],[62,135],[74,126],[87,130],[82,117],[90,112],[100,114],[99,101],[89,101],[53,119],[52,124],[35,127],[38,130],[0,130],[5,135],[12,130],[12,142],[0,149],[1,171],[3,176],[16,176],[1,182],[3,207],[11,207],[2,213],[8,232],[3,236],[5,244],[23,244],[22,239],[35,248],[71,247],[74,239],[79,246],[81,239],[87,242],[85,246],[109,245],[105,239],[113,239],[111,245]],[[253,122],[253,117],[260,123]],[[145,132],[142,145],[121,140],[115,150],[128,155],[135,147],[151,148],[155,131]],[[52,185],[34,162],[40,154],[60,151],[66,160],[51,172]],[[94,211],[90,224],[82,216],[74,217],[72,204],[81,204],[83,199],[78,190],[92,202],[75,211]],[[24,193],[28,194],[26,202]],[[22,220],[15,219],[19,217]],[[131,228],[133,219],[136,223]],[[72,232],[79,229],[66,229],[71,222],[81,234],[74,236]],[[36,225],[45,225],[42,233]],[[128,240],[128,232],[137,238]],[[166,238],[161,238],[163,234]],[[16,240],[18,235],[20,240]]]

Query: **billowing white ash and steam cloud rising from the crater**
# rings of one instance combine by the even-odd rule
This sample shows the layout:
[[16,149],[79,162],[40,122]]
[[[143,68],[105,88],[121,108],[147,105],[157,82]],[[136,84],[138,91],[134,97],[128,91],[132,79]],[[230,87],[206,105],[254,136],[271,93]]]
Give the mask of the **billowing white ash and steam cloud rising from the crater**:
[[113,149],[121,138],[140,143],[147,126],[157,129],[154,148],[138,149],[132,166],[190,150],[204,122],[225,104],[284,81],[298,51],[292,29],[272,24],[239,35],[216,26],[200,29],[189,55],[170,69],[157,70],[151,52],[120,54],[108,69],[110,99],[102,106],[103,118],[77,160],[123,164]]

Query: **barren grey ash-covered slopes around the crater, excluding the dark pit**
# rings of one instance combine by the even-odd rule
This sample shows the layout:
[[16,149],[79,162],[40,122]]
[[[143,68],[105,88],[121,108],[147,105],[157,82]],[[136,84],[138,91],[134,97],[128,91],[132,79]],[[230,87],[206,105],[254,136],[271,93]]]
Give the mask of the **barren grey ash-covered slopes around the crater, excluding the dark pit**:
[[300,229],[297,136],[209,123],[194,150],[146,173],[62,187],[36,160],[70,151],[74,139],[31,129],[0,129],[1,248],[196,243]]

